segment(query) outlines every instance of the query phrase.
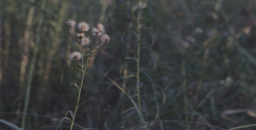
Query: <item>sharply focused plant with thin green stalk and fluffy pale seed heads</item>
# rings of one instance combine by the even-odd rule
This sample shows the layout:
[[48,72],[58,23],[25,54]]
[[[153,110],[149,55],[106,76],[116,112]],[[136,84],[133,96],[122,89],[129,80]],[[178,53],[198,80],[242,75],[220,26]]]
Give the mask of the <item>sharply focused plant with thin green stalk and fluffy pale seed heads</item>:
[[[68,26],[69,26],[69,28],[71,30],[69,32],[69,34],[71,35],[72,39],[74,39],[76,42],[78,42],[79,47],[81,47],[81,52],[73,52],[73,53],[71,53],[69,55],[70,60],[77,61],[78,64],[80,65],[80,67],[82,67],[82,69],[78,69],[78,70],[82,71],[82,79],[81,79],[80,86],[78,86],[76,83],[73,83],[73,84],[75,84],[75,87],[78,88],[79,92],[78,92],[78,97],[77,97],[74,113],[71,110],[68,111],[71,114],[72,119],[70,117],[63,117],[65,119],[67,119],[67,120],[70,120],[70,123],[71,123],[70,130],[72,130],[73,125],[74,125],[74,121],[75,121],[75,115],[76,115],[78,107],[81,104],[85,104],[85,103],[89,102],[89,101],[85,101],[85,102],[79,104],[79,102],[80,102],[79,100],[80,100],[80,96],[81,96],[81,91],[82,91],[82,85],[83,85],[83,81],[84,81],[84,78],[85,78],[85,71],[86,71],[86,68],[87,68],[88,63],[89,63],[89,58],[92,57],[92,56],[95,56],[99,52],[101,52],[105,48],[107,42],[110,41],[110,37],[107,34],[105,34],[104,26],[101,23],[98,23],[98,25],[95,28],[92,29],[92,36],[95,36],[95,41],[94,41],[92,50],[91,50],[90,53],[86,54],[86,46],[89,45],[89,42],[91,42],[89,40],[89,38],[85,36],[85,31],[89,30],[88,23],[81,22],[81,23],[78,24],[77,27],[78,27],[80,33],[76,33],[76,36],[78,36],[80,38],[79,40],[77,40],[75,38],[75,36],[74,36],[74,34],[72,32],[72,29],[75,28],[75,25],[76,25],[75,20],[71,20],[70,19],[66,23],[68,24]],[[104,46],[102,47],[102,49],[99,52],[93,52],[95,50],[96,43],[98,43],[98,39],[101,41],[100,46],[102,44],[104,44]],[[98,47],[96,49],[98,49]],[[82,65],[79,62],[79,60],[81,60],[81,59],[82,59]],[[84,61],[85,61],[84,59],[86,59],[85,63],[84,63]],[[100,100],[90,100],[90,101],[100,101]],[[105,103],[104,101],[101,101],[101,102]]]

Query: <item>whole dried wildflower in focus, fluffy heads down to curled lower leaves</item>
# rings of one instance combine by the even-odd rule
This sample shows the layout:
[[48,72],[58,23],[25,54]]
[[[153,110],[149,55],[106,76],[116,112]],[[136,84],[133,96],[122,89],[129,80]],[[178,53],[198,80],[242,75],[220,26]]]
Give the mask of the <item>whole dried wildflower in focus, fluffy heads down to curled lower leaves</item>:
[[[79,91],[78,99],[77,99],[76,106],[75,106],[75,111],[73,113],[71,110],[68,110],[66,112],[66,116],[62,118],[62,120],[66,119],[66,120],[70,121],[70,123],[71,123],[70,130],[72,130],[77,108],[80,105],[89,102],[89,101],[85,101],[85,102],[80,103],[80,101],[79,101],[82,84],[83,84],[83,80],[85,77],[85,70],[88,65],[89,58],[92,56],[98,55],[98,53],[100,53],[105,48],[106,44],[108,42],[110,42],[110,37],[107,34],[105,34],[104,26],[101,23],[98,23],[94,28],[92,28],[92,31],[91,31],[92,33],[86,33],[87,31],[89,31],[88,23],[85,23],[85,22],[78,23],[77,29],[79,30],[79,33],[76,33],[75,35],[72,32],[72,30],[76,26],[75,20],[70,19],[66,22],[66,24],[70,28],[70,32],[69,32],[70,36],[72,37],[72,39],[74,39],[79,44],[79,47],[81,48],[81,52],[72,52],[69,55],[69,59],[71,61],[78,62],[79,66],[81,67],[80,69],[79,68],[73,68],[73,69],[77,69],[82,72],[82,79],[81,79],[80,86],[76,83],[72,83],[70,85],[70,86],[72,86],[72,85],[75,86],[76,88],[78,88],[78,91]],[[95,40],[94,40],[93,44],[90,44],[90,42],[92,42],[92,41],[90,40],[89,36],[87,36],[87,34],[92,34],[92,36],[94,36]],[[86,49],[88,46],[90,46],[89,49]],[[95,49],[96,49],[96,51],[95,51]],[[99,51],[97,51],[98,49],[99,49]],[[91,101],[100,101],[100,100],[91,100]],[[105,103],[104,101],[101,101],[101,102]],[[110,107],[110,106],[108,105],[108,107]],[[68,114],[71,115],[71,118],[67,117]],[[62,120],[60,121],[60,123],[62,122]]]

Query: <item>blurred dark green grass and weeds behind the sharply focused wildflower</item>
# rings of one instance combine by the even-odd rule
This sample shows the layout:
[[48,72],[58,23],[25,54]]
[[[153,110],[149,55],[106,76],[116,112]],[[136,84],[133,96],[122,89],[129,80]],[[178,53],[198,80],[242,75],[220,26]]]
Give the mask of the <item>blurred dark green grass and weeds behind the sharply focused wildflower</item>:
[[[143,0],[142,0],[143,1]],[[256,122],[256,1],[144,0],[141,113],[150,130],[225,130]],[[139,130],[136,97],[138,0],[1,0],[0,119],[26,130],[55,130],[74,110],[79,48],[65,22],[105,26],[111,42],[91,58],[75,123]],[[90,34],[88,34],[90,35]],[[34,68],[34,69],[33,69]],[[63,75],[63,76],[62,76]],[[31,87],[31,88],[30,88]],[[30,91],[27,91],[30,89]],[[214,126],[214,127],[213,127]],[[12,130],[0,123],[2,130]],[[68,130],[62,123],[59,130]],[[248,127],[254,130],[255,127]]]

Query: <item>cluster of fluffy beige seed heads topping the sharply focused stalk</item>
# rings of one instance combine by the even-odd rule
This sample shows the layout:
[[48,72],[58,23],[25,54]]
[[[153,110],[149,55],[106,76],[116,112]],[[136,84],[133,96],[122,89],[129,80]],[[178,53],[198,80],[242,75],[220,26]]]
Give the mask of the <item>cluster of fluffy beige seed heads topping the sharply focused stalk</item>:
[[[102,48],[98,53],[93,53],[93,51],[91,51],[90,53],[86,54],[85,49],[86,46],[90,45],[90,42],[92,42],[89,39],[89,36],[86,36],[87,31],[89,31],[89,24],[85,23],[85,22],[80,22],[77,25],[77,29],[79,30],[79,33],[76,33],[76,35],[73,35],[72,32],[72,28],[75,28],[76,26],[76,22],[75,20],[68,20],[66,22],[66,24],[68,25],[68,27],[70,28],[70,32],[69,34],[72,36],[72,39],[74,39],[77,43],[79,43],[82,52],[72,52],[69,55],[69,59],[70,60],[81,60],[83,57],[87,58],[87,57],[92,57],[97,55],[99,52],[101,52],[104,48],[107,42],[110,42],[110,37],[105,34],[105,28],[101,23],[98,23],[97,26],[95,26],[94,28],[92,28],[92,36],[95,36],[95,41],[94,41],[94,45],[92,47],[92,49],[98,49],[99,47]],[[98,39],[100,39],[99,41],[97,41]],[[97,43],[99,44],[97,47],[95,47],[97,45]],[[101,47],[104,44],[103,47]]]

